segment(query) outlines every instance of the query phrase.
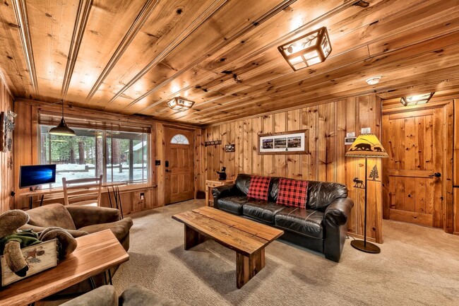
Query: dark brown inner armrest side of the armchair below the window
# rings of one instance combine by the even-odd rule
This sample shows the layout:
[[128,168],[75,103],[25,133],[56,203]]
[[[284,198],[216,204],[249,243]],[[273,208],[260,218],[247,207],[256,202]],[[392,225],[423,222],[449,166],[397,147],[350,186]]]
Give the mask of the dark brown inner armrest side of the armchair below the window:
[[100,206],[65,206],[72,216],[76,228],[100,223],[112,223],[120,219],[116,208]]

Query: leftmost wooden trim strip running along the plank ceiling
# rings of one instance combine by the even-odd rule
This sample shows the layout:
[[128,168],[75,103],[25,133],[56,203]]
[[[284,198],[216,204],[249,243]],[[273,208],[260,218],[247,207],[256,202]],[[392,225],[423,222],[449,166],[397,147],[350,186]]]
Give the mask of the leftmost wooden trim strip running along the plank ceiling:
[[30,83],[34,93],[38,95],[37,71],[35,71],[35,60],[33,57],[32,40],[30,39],[30,28],[25,0],[13,0],[12,2],[16,20],[19,25],[20,42],[23,47],[24,59],[27,64]]

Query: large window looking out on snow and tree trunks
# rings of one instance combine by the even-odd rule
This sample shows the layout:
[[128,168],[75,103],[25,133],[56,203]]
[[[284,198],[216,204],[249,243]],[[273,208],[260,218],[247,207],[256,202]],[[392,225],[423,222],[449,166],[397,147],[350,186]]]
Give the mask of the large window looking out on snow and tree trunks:
[[40,162],[57,164],[56,182],[104,175],[104,182],[148,182],[147,133],[72,128],[76,136],[48,134],[52,125],[40,125]]

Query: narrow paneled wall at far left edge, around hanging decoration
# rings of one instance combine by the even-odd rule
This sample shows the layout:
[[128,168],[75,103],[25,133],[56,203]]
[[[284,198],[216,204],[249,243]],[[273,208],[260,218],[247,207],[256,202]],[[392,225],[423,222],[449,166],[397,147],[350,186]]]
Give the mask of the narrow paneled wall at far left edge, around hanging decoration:
[[[9,93],[3,77],[0,78],[0,112],[13,110],[13,97]],[[0,213],[8,211],[13,204],[11,192],[13,191],[13,170],[8,167],[8,162],[13,160],[13,152],[0,152]]]

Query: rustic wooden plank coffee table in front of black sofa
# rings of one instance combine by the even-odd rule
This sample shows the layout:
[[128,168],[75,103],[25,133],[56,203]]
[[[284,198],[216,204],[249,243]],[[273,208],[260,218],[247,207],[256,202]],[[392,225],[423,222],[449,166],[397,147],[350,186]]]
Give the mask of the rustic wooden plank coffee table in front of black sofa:
[[242,288],[263,269],[265,247],[284,233],[207,206],[178,213],[172,218],[185,225],[185,249],[210,238],[236,251],[237,288]]

